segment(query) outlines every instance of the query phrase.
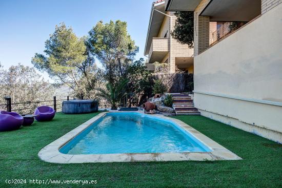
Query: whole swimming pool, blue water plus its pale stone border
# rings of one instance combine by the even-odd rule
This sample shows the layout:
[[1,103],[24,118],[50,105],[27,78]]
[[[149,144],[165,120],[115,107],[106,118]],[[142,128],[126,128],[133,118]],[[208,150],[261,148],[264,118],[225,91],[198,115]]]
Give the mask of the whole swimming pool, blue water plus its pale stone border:
[[42,148],[38,157],[64,164],[241,159],[183,121],[142,112],[95,114]]

